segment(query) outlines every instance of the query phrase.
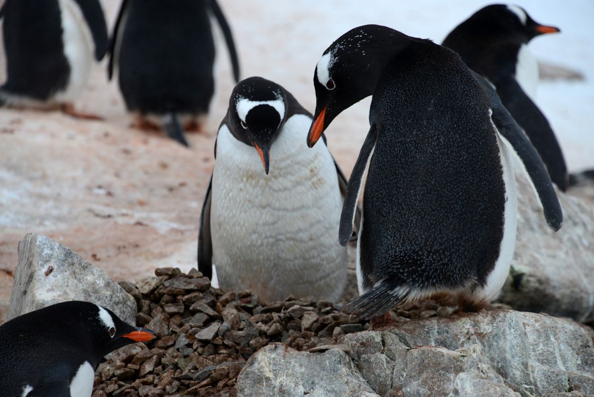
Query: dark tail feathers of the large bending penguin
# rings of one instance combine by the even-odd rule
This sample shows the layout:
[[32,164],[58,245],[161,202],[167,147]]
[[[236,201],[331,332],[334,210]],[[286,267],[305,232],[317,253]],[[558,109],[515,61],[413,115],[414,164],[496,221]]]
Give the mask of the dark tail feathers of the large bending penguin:
[[392,289],[382,282],[371,291],[367,291],[347,303],[342,310],[347,314],[356,316],[358,319],[369,320],[403,304],[408,295],[409,291],[407,289],[402,289],[402,291],[399,288]]

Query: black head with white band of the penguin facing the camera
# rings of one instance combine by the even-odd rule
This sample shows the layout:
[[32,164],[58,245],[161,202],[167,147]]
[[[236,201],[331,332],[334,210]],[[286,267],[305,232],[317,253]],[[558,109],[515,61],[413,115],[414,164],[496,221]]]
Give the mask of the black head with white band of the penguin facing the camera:
[[270,150],[287,119],[286,92],[261,77],[240,81],[229,99],[229,130],[239,141],[257,150],[264,172],[270,168]]

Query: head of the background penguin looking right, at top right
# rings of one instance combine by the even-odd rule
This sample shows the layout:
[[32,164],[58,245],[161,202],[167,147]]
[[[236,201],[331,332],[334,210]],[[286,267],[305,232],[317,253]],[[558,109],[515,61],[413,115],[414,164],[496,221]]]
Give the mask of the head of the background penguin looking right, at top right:
[[522,7],[517,5],[493,4],[475,12],[468,21],[489,30],[502,39],[528,43],[536,36],[557,33],[557,27],[539,24]]

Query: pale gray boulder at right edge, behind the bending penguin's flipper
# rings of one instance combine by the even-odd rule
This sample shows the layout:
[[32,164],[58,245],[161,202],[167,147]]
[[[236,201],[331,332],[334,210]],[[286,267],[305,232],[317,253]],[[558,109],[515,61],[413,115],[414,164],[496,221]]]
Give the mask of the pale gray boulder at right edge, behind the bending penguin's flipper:
[[517,310],[594,320],[594,210],[558,192],[563,226],[555,233],[527,179],[519,173],[516,179],[516,251],[498,301]]

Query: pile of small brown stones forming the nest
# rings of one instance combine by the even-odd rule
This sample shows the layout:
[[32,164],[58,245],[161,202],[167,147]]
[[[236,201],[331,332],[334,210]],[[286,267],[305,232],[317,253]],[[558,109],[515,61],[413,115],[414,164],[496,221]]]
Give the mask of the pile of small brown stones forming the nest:
[[[157,334],[146,344],[108,356],[95,375],[93,397],[235,396],[245,361],[282,342],[306,351],[372,324],[340,311],[342,304],[296,299],[261,301],[251,291],[213,288],[192,269],[156,269],[155,277],[120,285],[138,304],[136,321]],[[394,321],[451,313],[431,303],[390,312]]]

